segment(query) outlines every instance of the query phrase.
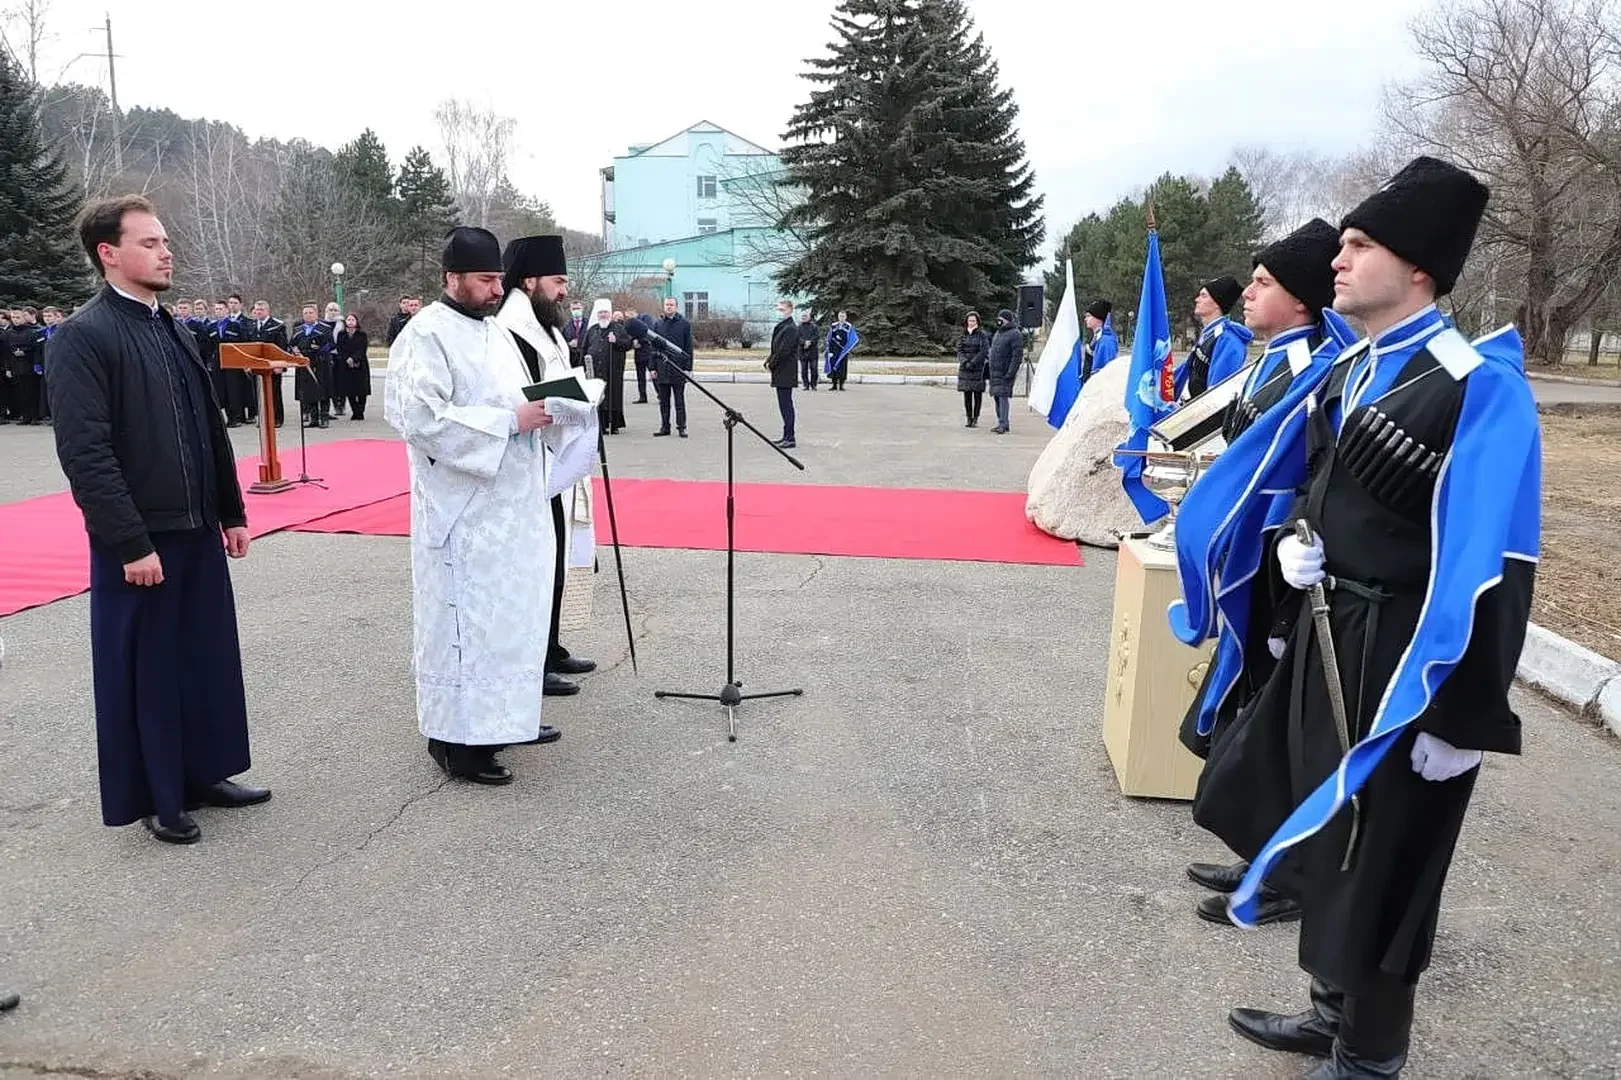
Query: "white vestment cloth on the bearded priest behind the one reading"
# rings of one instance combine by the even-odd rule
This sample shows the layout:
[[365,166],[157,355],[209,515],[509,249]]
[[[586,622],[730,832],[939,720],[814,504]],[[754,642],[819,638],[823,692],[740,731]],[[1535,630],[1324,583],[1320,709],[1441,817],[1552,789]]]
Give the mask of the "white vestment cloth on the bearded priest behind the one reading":
[[[595,311],[605,310],[606,300],[598,300]],[[611,311],[611,306],[608,306]],[[569,363],[569,347],[561,337],[553,337],[535,318],[535,305],[522,290],[512,290],[496,313],[496,323],[514,337],[524,339],[540,360],[541,381],[561,379],[574,366]],[[556,409],[553,409],[556,407]],[[559,472],[551,495],[562,496],[562,558],[564,568],[593,566],[597,563],[597,534],[592,529],[592,482],[597,465],[597,428],[600,414],[590,405],[572,401],[548,402],[546,412],[554,412],[556,423],[543,428],[550,456],[548,472]],[[559,459],[566,456],[566,464]]]

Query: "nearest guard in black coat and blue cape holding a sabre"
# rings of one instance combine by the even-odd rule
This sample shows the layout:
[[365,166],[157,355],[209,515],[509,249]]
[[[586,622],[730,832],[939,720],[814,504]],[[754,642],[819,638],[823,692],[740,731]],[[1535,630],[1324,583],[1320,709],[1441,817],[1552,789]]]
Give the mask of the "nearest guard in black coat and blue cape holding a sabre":
[[1195,819],[1251,858],[1234,921],[1253,924],[1263,881],[1300,903],[1310,1007],[1229,1022],[1324,1057],[1310,1080],[1401,1074],[1480,762],[1520,748],[1509,686],[1540,551],[1537,405],[1512,328],[1467,341],[1436,308],[1486,201],[1418,157],[1341,222],[1334,310],[1370,344],[1279,448],[1303,472],[1272,551],[1292,631],[1195,798]]

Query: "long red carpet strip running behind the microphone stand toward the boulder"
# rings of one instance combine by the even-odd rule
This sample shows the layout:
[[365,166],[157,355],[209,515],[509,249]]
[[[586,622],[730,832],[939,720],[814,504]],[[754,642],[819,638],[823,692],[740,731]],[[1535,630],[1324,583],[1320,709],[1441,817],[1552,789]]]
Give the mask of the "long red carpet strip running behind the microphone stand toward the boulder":
[[[726,548],[726,485],[614,480],[619,542],[634,548]],[[410,535],[410,496],[295,525],[298,532]],[[608,506],[597,483],[597,540]],[[961,559],[1080,566],[1081,551],[1024,521],[1024,496],[1007,491],[738,485],[738,550],[888,559]]]

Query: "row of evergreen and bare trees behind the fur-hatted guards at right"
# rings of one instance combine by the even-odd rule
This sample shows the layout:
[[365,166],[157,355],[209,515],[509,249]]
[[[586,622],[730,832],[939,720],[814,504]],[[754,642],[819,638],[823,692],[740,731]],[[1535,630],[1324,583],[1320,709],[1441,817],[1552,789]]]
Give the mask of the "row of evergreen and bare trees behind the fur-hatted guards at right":
[[[1175,315],[1191,303],[1190,281],[1248,274],[1247,245],[1315,216],[1337,224],[1405,161],[1435,154],[1491,188],[1473,255],[1446,302],[1461,328],[1516,323],[1530,363],[1559,363],[1572,334],[1587,329],[1597,363],[1602,334],[1621,329],[1621,6],[1454,0],[1410,29],[1423,66],[1386,88],[1370,146],[1344,157],[1243,146],[1214,183],[1162,177],[1109,214],[1075,224],[1047,274],[1049,306],[1068,256],[1083,297],[1135,308],[1149,201]],[[1235,193],[1234,178],[1261,211],[1258,232],[1243,214],[1211,208],[1201,222],[1188,206],[1188,188],[1195,201],[1209,201],[1224,185]],[[1201,232],[1219,222],[1229,232]]]

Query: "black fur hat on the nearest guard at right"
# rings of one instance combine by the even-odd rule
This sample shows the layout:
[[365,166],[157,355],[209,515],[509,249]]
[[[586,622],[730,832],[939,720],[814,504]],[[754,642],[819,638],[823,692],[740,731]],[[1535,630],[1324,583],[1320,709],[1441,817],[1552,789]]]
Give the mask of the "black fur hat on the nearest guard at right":
[[1475,246],[1475,230],[1491,191],[1457,165],[1415,157],[1383,188],[1345,214],[1344,229],[1360,229],[1435,281],[1435,294],[1452,292]]

